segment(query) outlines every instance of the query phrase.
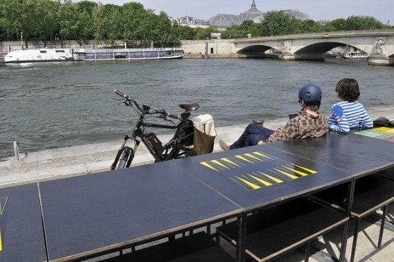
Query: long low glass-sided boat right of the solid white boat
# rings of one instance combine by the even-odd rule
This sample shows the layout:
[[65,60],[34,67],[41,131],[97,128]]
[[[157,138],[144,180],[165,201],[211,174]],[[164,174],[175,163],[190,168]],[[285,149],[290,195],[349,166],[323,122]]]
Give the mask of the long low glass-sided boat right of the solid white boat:
[[76,61],[177,59],[183,57],[182,48],[124,48],[124,49],[76,49]]

